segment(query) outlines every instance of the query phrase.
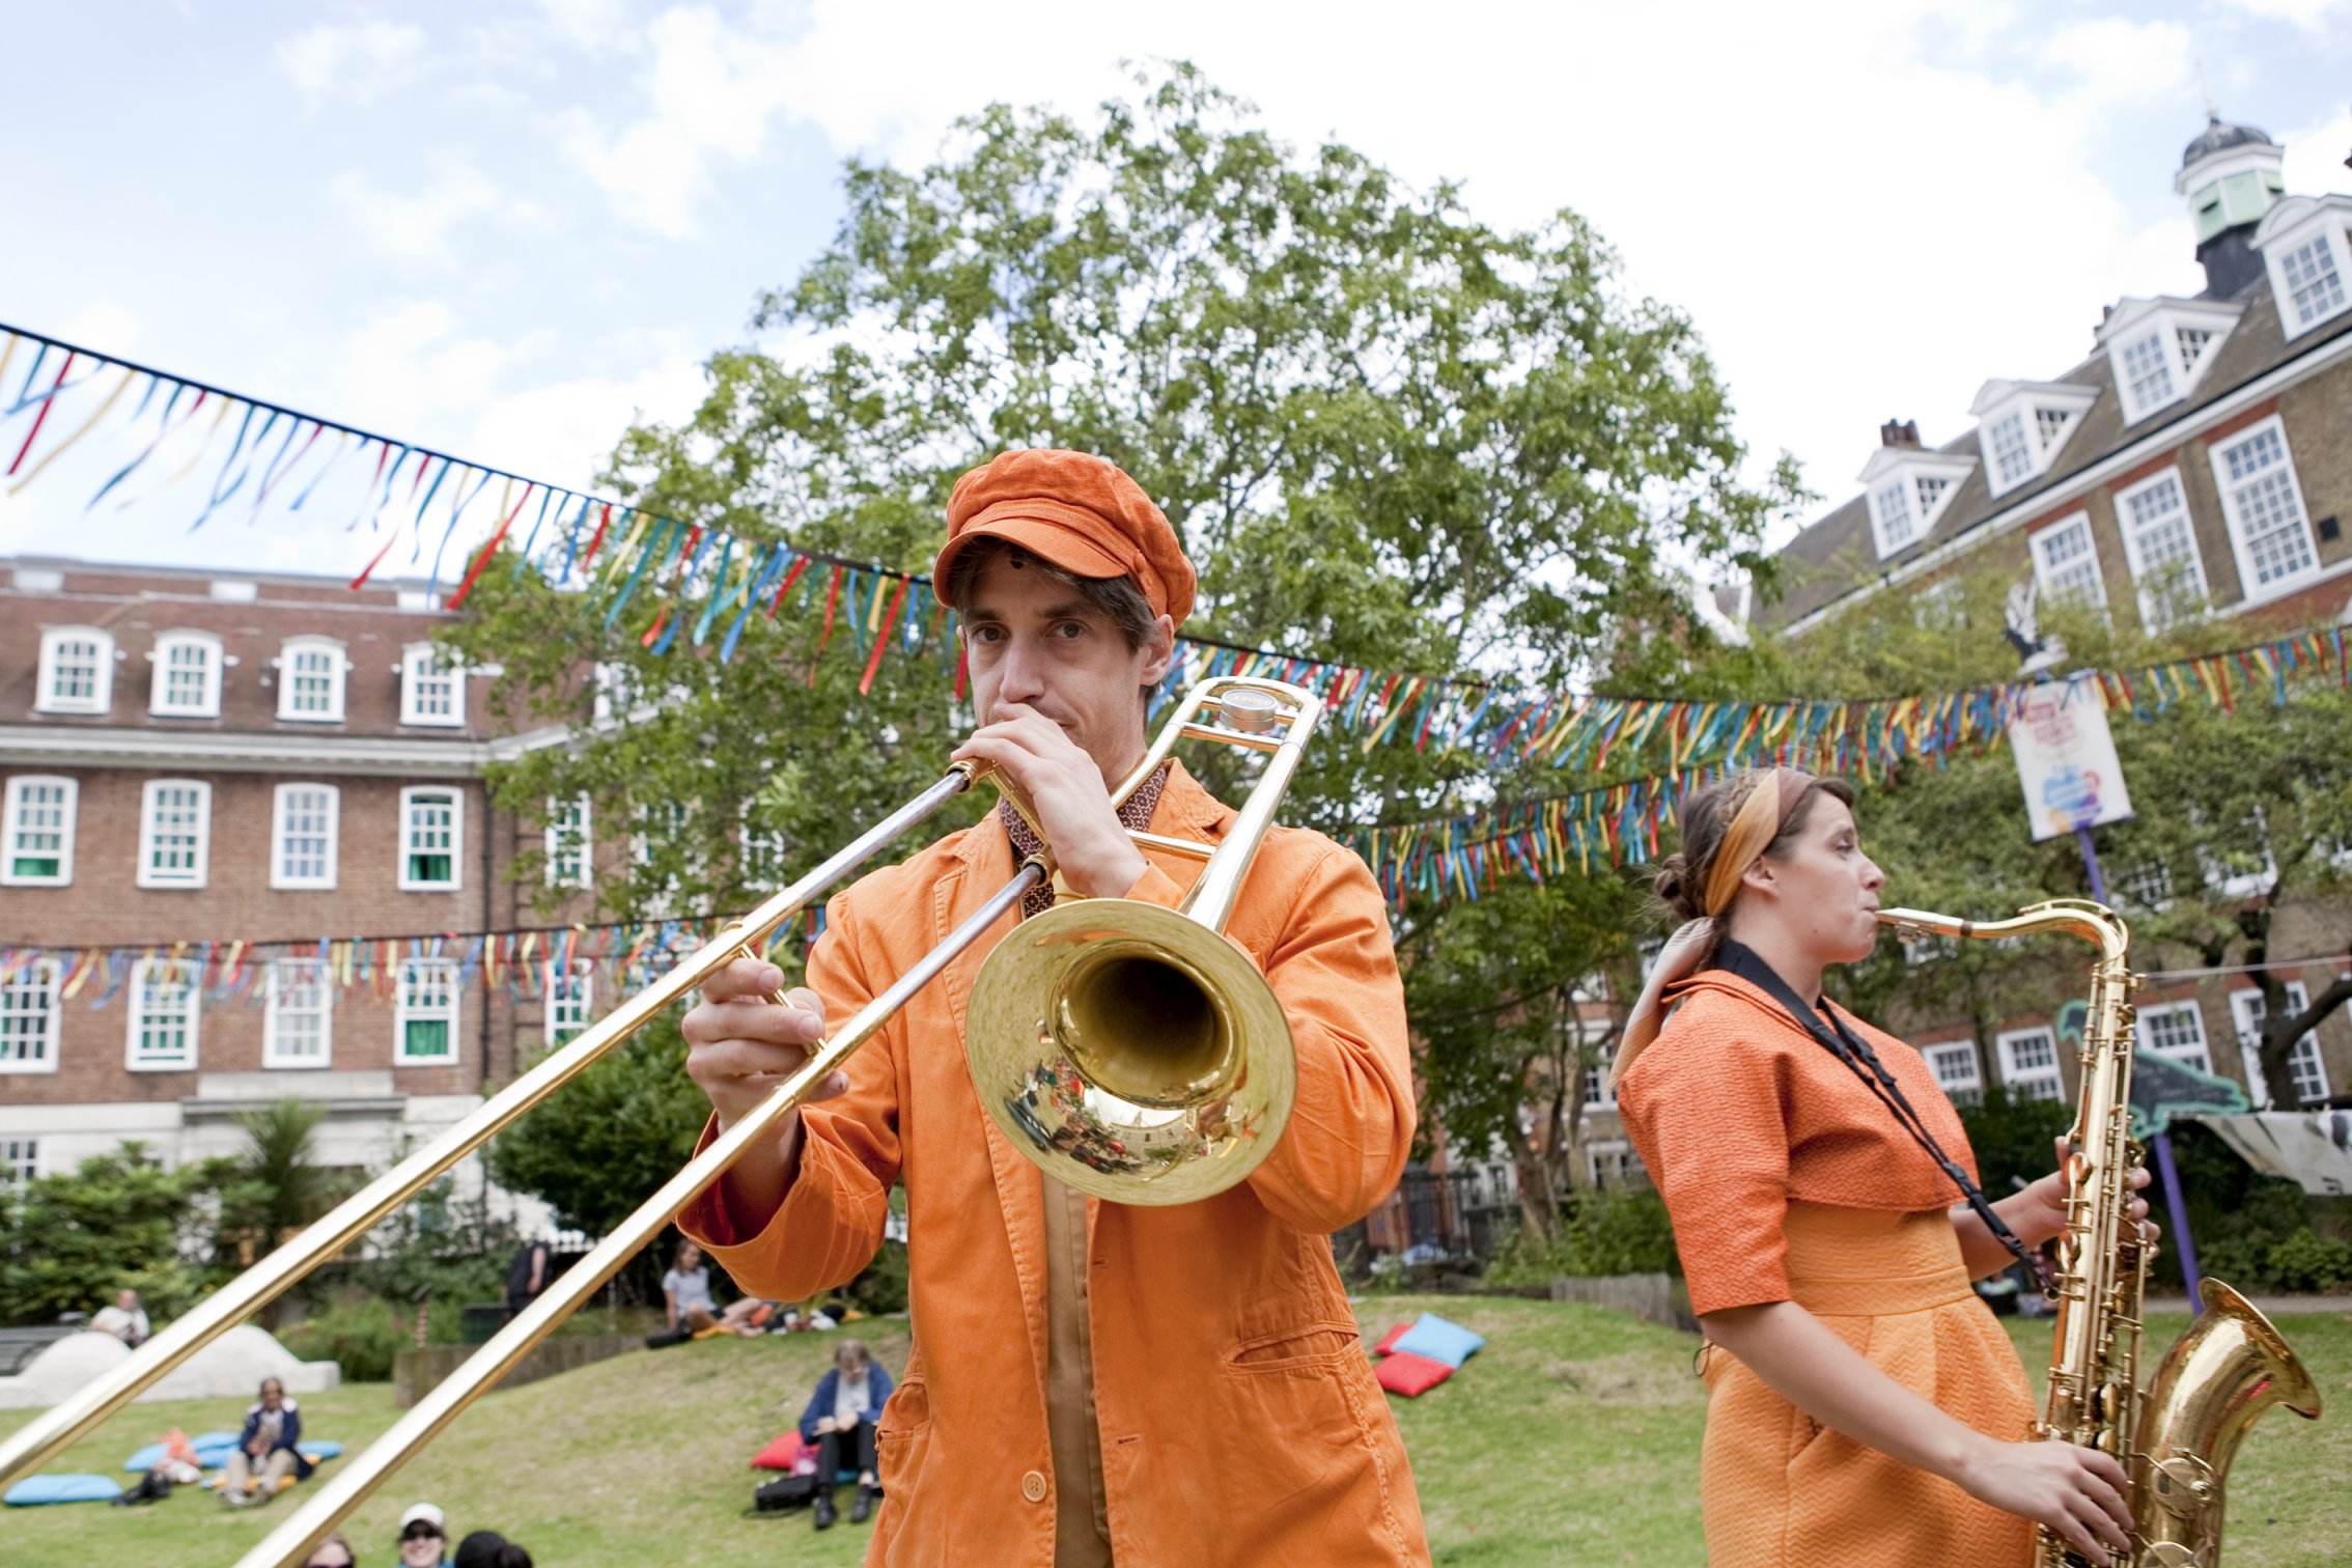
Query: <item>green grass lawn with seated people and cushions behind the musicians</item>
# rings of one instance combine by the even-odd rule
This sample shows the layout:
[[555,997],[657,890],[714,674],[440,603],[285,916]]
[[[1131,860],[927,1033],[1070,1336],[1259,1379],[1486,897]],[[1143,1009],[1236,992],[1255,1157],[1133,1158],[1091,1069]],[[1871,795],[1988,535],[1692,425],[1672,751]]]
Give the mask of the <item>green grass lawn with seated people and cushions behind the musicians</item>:
[[[1696,1340],[1595,1307],[1374,1298],[1362,1324],[1430,1307],[1486,1335],[1461,1375],[1418,1401],[1392,1401],[1404,1427],[1437,1561],[1463,1568],[1703,1561],[1698,1436],[1703,1392],[1691,1375]],[[2321,1396],[2336,1408],[2307,1425],[2272,1413],[2232,1472],[2232,1568],[2324,1568],[2352,1559],[2352,1314],[2284,1319]],[[906,1331],[863,1324],[898,1368]],[[2183,1319],[2150,1326],[2150,1359]],[[2046,1324],[2013,1324],[2027,1368],[2049,1361]],[[807,1514],[743,1519],[750,1453],[800,1415],[830,1356],[828,1335],[706,1340],[637,1352],[492,1394],[409,1462],[348,1533],[367,1568],[393,1561],[400,1509],[430,1497],[454,1530],[496,1528],[546,1568],[574,1563],[826,1566],[856,1563],[866,1530],[826,1535]],[[52,1469],[118,1467],[167,1427],[235,1427],[242,1399],[134,1406]],[[358,1450],[393,1422],[388,1385],[301,1399],[303,1432]],[[21,1422],[0,1413],[0,1429]],[[1256,1439],[1251,1439],[1256,1441]],[[296,1493],[299,1495],[299,1493]],[[847,1495],[844,1495],[847,1502]],[[146,1509],[75,1505],[7,1509],[0,1561],[9,1568],[136,1568],[233,1563],[289,1509],[221,1509],[181,1490]]]

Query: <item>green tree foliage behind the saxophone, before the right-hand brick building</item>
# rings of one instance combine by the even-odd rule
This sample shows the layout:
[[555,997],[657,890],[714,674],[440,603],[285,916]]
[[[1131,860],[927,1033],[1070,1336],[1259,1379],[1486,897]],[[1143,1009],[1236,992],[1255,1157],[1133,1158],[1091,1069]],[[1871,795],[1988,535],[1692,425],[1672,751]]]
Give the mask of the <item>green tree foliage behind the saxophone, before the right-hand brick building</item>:
[[[1945,602],[1915,599],[1893,614],[1849,614],[1795,642],[1740,649],[1696,670],[1698,682],[1757,693],[1889,696],[1957,691],[2016,679],[2002,637],[1994,571],[1962,578]],[[2244,623],[2183,621],[2147,635],[2122,616],[2049,607],[2044,630],[2070,668],[2140,668],[2211,654],[2249,639]],[[2232,708],[2201,696],[2164,703],[2138,691],[2138,717],[2110,719],[2133,816],[2093,835],[2107,903],[2133,931],[2133,969],[2246,966],[2265,999],[2263,1079],[2293,1098],[2288,1053],[2352,999],[2333,983],[2288,1006],[2272,964],[2343,952],[2352,938],[2352,693],[2331,679],[2258,691]],[[2016,759],[2006,745],[1947,762],[1905,764],[1860,804],[1863,846],[1886,870],[1884,903],[1999,917],[2042,898],[2091,896],[2072,837],[2030,839]],[[2298,907],[2310,952],[2274,952],[2279,914]],[[1905,954],[1884,943],[1849,973],[1858,1006],[1917,1013],[1962,1011],[1978,1041],[2018,1011],[2051,1011],[2082,992],[2082,952],[2063,945],[1931,943]]]

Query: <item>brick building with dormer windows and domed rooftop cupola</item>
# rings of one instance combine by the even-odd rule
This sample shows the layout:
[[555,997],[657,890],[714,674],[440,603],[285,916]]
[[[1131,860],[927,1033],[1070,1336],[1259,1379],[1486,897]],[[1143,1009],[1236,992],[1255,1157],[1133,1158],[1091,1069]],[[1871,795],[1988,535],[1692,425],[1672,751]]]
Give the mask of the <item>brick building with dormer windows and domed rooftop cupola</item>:
[[[1856,611],[1926,618],[1947,614],[1938,595],[1957,574],[1990,564],[2126,623],[2234,618],[2246,642],[2352,618],[2352,195],[2286,193],[2281,162],[2263,132],[2206,125],[2173,179],[2206,289],[2110,306],[2089,357],[1985,381],[1978,423],[1943,444],[1884,425],[1863,489],[1783,550],[1788,592],[1724,609],[1778,637]],[[2119,889],[2126,914],[2131,896]],[[2343,933],[2343,910],[2284,905],[2272,943],[2340,952]],[[2307,964],[2293,985],[2317,994],[2343,966]],[[2145,1048],[2230,1074],[2260,1103],[2232,1048],[2258,1018],[2246,976],[2140,994]],[[2009,1018],[1992,1039],[1912,1023],[1955,1098],[1992,1081],[2074,1091],[2049,1016]],[[2305,1037],[2293,1070],[2305,1098],[2352,1091],[2352,1018]]]

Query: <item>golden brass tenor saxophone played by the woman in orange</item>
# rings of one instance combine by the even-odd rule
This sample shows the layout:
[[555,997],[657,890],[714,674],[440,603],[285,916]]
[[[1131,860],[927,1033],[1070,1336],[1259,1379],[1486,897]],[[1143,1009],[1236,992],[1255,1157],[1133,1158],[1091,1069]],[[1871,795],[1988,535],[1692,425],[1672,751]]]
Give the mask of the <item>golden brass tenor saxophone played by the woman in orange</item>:
[[[2098,947],[2082,1027],[2082,1100],[2058,1237],[2058,1319],[2039,1436],[2114,1455],[2131,1476],[2131,1552],[2124,1568],[2216,1568],[2225,1483],[2246,1429],[2270,1406],[2319,1415],[2319,1389],[2279,1331],[2230,1286],[2206,1279],[2206,1307],[2140,1387],[2140,1298],[2147,1246],[2131,1218],[2131,931],[2107,905],[2058,898],[2016,919],[1966,922],[1922,910],[1879,910],[1905,940],[2006,938],[2065,931]],[[2079,1568],[2058,1535],[2034,1535],[2037,1568]]]

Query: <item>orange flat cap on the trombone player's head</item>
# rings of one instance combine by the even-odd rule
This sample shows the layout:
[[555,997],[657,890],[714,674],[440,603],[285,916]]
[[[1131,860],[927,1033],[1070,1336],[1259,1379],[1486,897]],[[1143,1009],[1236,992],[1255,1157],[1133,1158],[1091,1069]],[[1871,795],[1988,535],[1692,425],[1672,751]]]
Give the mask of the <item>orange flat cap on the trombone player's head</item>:
[[948,581],[974,538],[1002,538],[1070,576],[1127,576],[1155,616],[1192,614],[1192,562],[1143,487],[1089,451],[1007,451],[955,482],[948,543],[931,583]]

